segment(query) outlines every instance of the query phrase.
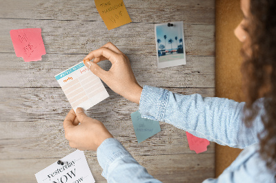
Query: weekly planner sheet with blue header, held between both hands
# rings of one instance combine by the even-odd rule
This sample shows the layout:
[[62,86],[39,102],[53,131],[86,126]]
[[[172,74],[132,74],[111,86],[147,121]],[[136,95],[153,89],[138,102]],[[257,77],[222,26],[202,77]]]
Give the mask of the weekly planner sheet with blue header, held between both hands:
[[84,110],[108,98],[108,92],[99,77],[82,62],[55,76],[74,111]]

